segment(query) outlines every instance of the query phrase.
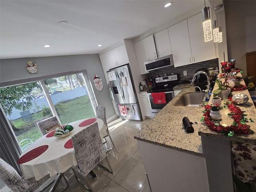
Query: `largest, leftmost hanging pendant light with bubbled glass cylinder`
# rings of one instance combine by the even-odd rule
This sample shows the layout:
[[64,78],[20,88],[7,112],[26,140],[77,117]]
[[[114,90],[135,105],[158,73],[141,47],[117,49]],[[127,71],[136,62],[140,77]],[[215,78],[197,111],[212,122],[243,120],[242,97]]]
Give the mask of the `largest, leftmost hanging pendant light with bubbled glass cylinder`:
[[202,19],[204,28],[204,42],[212,40],[212,22],[210,19],[210,8],[206,7],[204,0],[204,8],[202,9]]

